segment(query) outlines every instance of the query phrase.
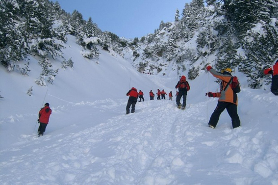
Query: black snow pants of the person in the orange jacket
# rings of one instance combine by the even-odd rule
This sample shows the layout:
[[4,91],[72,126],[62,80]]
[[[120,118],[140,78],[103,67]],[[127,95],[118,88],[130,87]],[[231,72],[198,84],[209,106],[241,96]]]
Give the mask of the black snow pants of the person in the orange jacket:
[[229,102],[218,102],[214,112],[211,114],[208,125],[216,127],[220,114],[227,109],[229,116],[231,117],[232,127],[237,128],[240,126],[240,120],[237,114],[237,106]]

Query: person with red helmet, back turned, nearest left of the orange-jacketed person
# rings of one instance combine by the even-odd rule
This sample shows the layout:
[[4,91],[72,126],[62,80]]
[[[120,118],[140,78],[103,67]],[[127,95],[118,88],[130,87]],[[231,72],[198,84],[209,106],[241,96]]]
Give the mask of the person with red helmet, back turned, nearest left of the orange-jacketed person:
[[[186,81],[185,76],[181,76],[180,80],[177,82],[176,89],[178,88],[178,94],[176,98],[177,107],[184,110],[186,106],[186,96],[187,91],[190,90],[190,86],[188,81]],[[180,99],[183,98],[182,105],[180,104]]]

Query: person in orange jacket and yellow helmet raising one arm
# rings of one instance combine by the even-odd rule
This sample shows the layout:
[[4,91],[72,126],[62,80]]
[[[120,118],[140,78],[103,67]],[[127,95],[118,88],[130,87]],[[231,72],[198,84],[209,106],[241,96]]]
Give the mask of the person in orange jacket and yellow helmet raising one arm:
[[208,97],[217,97],[218,99],[218,104],[213,111],[213,113],[210,116],[208,126],[210,128],[215,128],[220,114],[227,109],[227,112],[229,116],[231,117],[232,121],[232,127],[237,128],[240,127],[240,119],[237,114],[237,95],[236,93],[232,90],[231,86],[229,83],[231,82],[232,75],[231,75],[231,69],[226,68],[223,70],[223,73],[219,73],[212,69],[211,66],[206,67],[207,71],[209,71],[214,77],[217,79],[221,79],[221,85],[220,85],[220,92],[217,93],[212,93],[212,92],[207,92],[205,95]]

